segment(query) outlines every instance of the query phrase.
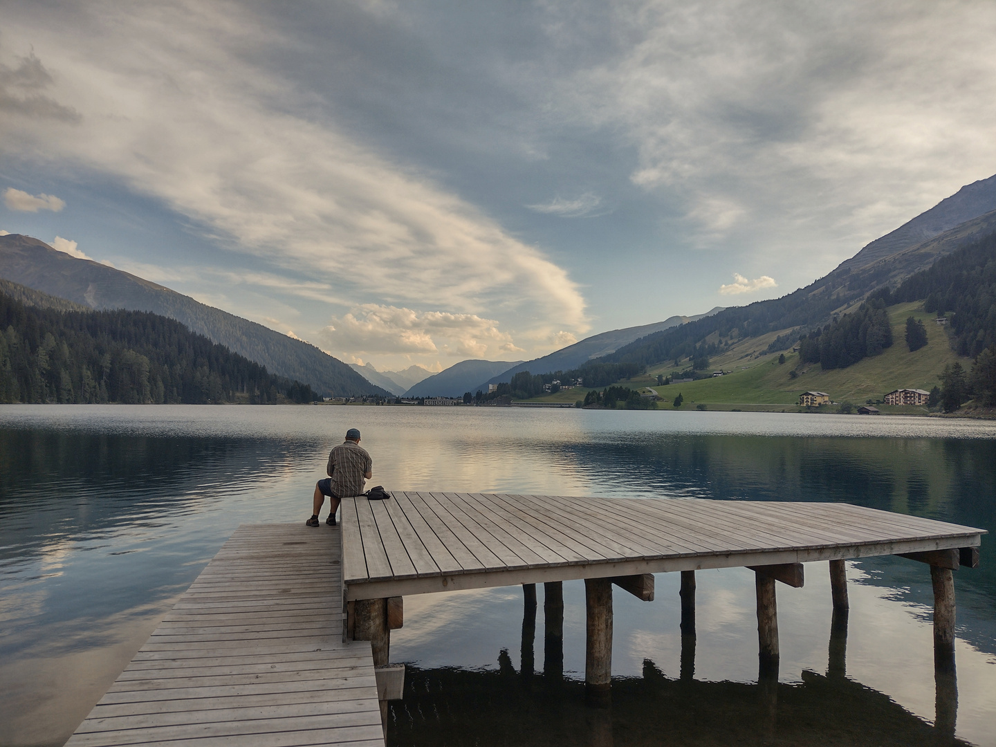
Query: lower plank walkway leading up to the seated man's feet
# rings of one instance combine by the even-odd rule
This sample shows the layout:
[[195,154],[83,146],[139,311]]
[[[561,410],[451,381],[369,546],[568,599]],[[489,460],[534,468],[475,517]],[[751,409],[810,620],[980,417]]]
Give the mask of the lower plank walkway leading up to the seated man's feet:
[[382,747],[371,644],[342,640],[340,540],[239,527],[68,747]]

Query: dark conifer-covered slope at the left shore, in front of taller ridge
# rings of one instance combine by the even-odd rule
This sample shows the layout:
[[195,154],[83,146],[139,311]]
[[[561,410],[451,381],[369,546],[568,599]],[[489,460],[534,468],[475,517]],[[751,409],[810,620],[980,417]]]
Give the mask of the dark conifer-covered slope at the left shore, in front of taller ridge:
[[316,398],[307,384],[148,312],[60,311],[0,293],[0,402],[132,404]]

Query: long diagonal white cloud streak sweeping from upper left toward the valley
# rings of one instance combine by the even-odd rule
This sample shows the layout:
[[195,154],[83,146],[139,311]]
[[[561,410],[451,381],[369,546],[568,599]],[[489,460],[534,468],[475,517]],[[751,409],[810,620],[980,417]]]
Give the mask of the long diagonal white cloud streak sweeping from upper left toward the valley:
[[80,21],[88,32],[73,35],[50,20],[13,22],[9,35],[30,40],[51,71],[51,96],[80,118],[0,113],[0,125],[54,161],[109,172],[234,251],[334,279],[348,305],[375,294],[455,314],[500,307],[525,325],[587,331],[565,269],[409,164],[310,116],[312,92],[253,64],[268,57],[252,57],[261,48],[293,45],[272,24],[237,4],[143,7],[97,2]]

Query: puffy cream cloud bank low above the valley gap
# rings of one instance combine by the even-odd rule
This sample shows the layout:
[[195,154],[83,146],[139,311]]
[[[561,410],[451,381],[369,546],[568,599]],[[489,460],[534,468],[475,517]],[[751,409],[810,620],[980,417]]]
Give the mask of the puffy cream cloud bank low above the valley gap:
[[322,342],[339,357],[358,354],[441,354],[453,358],[489,358],[520,351],[512,338],[498,330],[498,322],[475,314],[416,312],[394,306],[364,304],[354,308],[320,333]]

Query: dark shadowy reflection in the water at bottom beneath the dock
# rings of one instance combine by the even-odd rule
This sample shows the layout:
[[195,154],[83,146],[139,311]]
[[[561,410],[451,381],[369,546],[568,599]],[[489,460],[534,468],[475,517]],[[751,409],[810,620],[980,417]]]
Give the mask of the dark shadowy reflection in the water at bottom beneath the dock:
[[387,744],[417,745],[966,745],[846,677],[804,671],[793,684],[667,677],[650,659],[613,681],[610,708],[584,684],[497,670],[408,666],[388,709]]

